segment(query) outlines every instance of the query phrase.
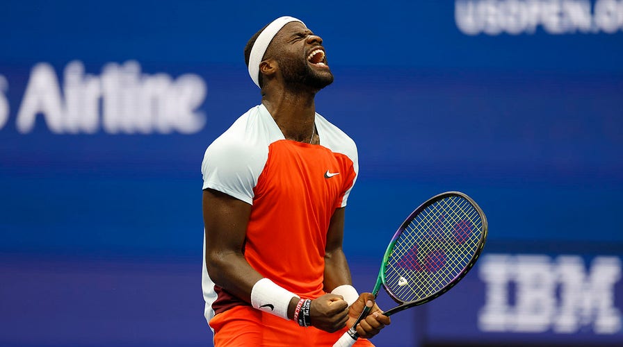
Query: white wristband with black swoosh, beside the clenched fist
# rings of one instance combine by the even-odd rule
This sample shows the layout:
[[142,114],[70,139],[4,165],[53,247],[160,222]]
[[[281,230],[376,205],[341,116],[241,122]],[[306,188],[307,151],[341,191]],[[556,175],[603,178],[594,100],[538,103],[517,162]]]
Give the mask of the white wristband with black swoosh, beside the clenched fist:
[[251,289],[251,305],[257,310],[288,319],[288,306],[293,296],[299,297],[268,278],[262,278]]

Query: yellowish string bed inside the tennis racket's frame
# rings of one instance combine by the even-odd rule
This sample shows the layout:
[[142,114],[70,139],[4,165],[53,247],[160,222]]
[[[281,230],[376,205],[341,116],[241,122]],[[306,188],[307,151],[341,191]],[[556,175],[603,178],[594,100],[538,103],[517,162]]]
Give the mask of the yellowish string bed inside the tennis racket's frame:
[[480,214],[466,199],[448,196],[432,203],[396,240],[385,284],[401,301],[432,296],[469,265],[482,232]]

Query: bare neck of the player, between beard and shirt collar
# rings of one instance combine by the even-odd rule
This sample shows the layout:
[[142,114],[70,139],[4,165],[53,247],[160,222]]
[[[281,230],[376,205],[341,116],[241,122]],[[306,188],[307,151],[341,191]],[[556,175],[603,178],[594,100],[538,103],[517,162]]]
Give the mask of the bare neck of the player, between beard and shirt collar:
[[315,91],[271,85],[262,90],[261,102],[286,139],[310,142],[316,117],[315,96]]

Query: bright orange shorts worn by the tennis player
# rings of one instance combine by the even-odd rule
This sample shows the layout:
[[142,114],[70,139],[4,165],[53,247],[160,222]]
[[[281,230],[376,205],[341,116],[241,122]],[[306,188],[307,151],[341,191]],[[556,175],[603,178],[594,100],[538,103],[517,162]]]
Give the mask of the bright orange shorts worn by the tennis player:
[[[295,321],[286,321],[250,306],[237,306],[217,314],[210,320],[214,329],[215,347],[238,346],[333,346],[346,330],[325,332],[314,327],[303,328]],[[374,346],[359,339],[357,347]]]

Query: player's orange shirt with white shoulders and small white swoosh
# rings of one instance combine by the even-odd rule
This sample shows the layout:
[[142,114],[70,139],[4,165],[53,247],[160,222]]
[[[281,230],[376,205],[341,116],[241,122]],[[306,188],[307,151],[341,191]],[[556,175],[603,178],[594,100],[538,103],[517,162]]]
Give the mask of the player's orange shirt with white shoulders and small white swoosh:
[[[333,212],[346,206],[359,170],[353,139],[318,113],[315,124],[320,144],[291,141],[266,107],[257,105],[214,140],[202,163],[203,189],[252,205],[247,262],[277,285],[309,298],[323,294],[329,223]],[[208,321],[248,305],[214,285],[205,261],[202,287]]]

